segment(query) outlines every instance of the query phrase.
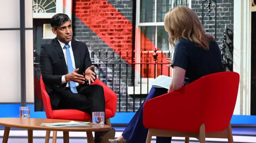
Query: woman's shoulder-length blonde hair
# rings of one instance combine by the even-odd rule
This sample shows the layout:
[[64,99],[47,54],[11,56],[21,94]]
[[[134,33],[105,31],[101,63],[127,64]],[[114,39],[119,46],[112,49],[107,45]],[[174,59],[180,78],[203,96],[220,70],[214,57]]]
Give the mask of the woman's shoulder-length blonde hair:
[[168,32],[169,42],[175,46],[175,41],[182,38],[194,41],[198,47],[208,50],[210,41],[215,41],[212,35],[204,32],[204,27],[196,13],[186,6],[177,6],[166,13],[164,29]]

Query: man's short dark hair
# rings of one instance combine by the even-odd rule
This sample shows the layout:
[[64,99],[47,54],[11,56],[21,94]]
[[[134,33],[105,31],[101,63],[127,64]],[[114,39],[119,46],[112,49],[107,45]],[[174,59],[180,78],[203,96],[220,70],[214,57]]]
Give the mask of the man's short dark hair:
[[58,26],[66,23],[67,21],[71,21],[68,15],[66,14],[55,14],[51,19],[51,26],[54,29],[57,29]]

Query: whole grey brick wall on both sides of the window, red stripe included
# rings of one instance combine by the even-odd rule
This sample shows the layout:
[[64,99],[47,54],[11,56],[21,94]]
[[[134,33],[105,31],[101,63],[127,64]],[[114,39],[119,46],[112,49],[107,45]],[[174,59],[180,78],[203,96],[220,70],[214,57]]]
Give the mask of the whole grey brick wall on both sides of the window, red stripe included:
[[[126,77],[128,85],[131,85],[132,68],[128,65],[128,75],[126,75],[126,64],[122,64],[121,67],[114,65],[113,68],[112,64],[106,65],[106,63],[112,63],[112,61],[118,63],[120,60],[122,63],[126,63],[126,61],[132,60],[134,48],[132,46],[133,0],[74,0],[73,5],[74,38],[85,42],[89,50],[95,52],[94,56],[91,56],[92,60],[101,63],[100,69],[96,68],[97,74],[100,75],[103,82],[114,89],[118,98],[121,99],[121,112],[126,112]],[[220,46],[225,24],[228,28],[233,29],[233,7],[234,0],[217,0],[216,40]],[[208,9],[204,8],[204,27],[206,32],[212,35],[214,35],[215,28],[214,8],[215,4],[211,8],[210,17]],[[192,0],[192,10],[202,20],[202,0]],[[101,51],[100,55],[98,51]],[[108,56],[106,56],[106,51],[108,51]],[[127,58],[126,51],[128,51]],[[112,71],[114,71],[114,81],[112,80]],[[121,76],[119,76],[120,72]],[[121,82],[120,90],[119,81]],[[139,102],[136,100],[135,110],[139,108]],[[119,102],[117,105],[118,111]],[[132,112],[133,99],[129,95],[127,106],[128,112]]]

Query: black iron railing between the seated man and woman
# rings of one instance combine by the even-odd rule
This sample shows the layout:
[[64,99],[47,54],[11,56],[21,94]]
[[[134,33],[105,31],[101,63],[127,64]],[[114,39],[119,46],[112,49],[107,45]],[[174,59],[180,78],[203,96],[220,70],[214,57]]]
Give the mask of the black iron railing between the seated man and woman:
[[[117,111],[135,112],[148,95],[150,78],[153,79],[163,74],[163,67],[164,65],[166,67],[168,64],[164,57],[170,57],[171,52],[164,53],[155,49],[152,54],[152,61],[150,61],[150,53],[152,51],[141,51],[139,60],[128,60],[131,53],[128,53],[128,51],[124,52],[126,52],[125,57],[116,57],[114,51],[92,51],[90,57],[98,78],[117,94]],[[122,52],[120,51],[118,54],[122,55]],[[158,57],[158,54],[161,56]],[[134,69],[134,67],[138,68]],[[140,74],[136,76],[138,78],[132,79],[131,75],[135,72]],[[168,68],[166,75],[170,76],[170,68]],[[144,84],[143,80],[146,80]],[[146,88],[146,92],[142,91],[143,88]]]

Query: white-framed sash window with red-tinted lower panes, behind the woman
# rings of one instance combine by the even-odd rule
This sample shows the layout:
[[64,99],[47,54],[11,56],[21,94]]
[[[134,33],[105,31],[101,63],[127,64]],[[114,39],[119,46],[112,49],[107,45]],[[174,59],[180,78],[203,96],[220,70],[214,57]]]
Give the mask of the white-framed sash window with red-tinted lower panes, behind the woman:
[[[153,63],[155,47],[158,49],[157,63],[161,62],[163,55],[169,56],[172,48],[168,42],[168,33],[164,30],[164,16],[166,12],[179,5],[191,8],[191,0],[137,0],[136,27],[139,29],[136,33],[137,62]],[[136,81],[139,81],[140,76],[154,78],[154,76],[163,74],[161,71],[167,70],[166,65],[157,65],[154,69],[153,64],[142,65],[138,69],[142,71],[138,72],[141,74],[136,76]],[[155,70],[157,75],[154,74]]]

